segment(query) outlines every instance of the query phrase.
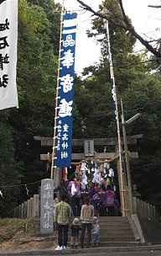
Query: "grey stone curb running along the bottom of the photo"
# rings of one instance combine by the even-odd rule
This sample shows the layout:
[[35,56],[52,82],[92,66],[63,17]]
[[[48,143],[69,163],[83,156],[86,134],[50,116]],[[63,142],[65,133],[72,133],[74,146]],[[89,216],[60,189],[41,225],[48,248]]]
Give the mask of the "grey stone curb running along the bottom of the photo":
[[112,247],[112,248],[78,248],[78,249],[67,249],[62,251],[55,251],[55,249],[44,249],[44,250],[25,250],[25,251],[8,251],[0,252],[2,256],[21,255],[21,256],[32,256],[32,255],[61,255],[61,254],[84,254],[84,253],[112,253],[112,252],[137,252],[137,251],[151,251],[161,250],[161,244],[149,245],[149,246],[136,246],[136,247]]

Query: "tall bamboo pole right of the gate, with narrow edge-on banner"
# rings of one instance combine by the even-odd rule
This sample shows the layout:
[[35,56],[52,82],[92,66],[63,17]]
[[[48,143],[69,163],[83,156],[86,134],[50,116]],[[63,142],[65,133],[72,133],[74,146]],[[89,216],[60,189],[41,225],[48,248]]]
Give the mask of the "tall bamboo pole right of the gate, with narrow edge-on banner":
[[121,190],[121,198],[122,198],[122,216],[125,216],[125,196],[124,196],[123,177],[122,177],[122,147],[121,147],[120,125],[119,125],[118,106],[117,106],[117,90],[116,90],[115,77],[114,77],[113,65],[112,65],[112,52],[111,52],[111,45],[110,45],[108,20],[106,20],[106,37],[107,37],[107,46],[108,46],[110,74],[113,80],[113,97],[115,99],[115,106],[116,106],[115,115],[117,118],[117,138],[118,138],[118,154],[119,154],[119,168],[120,168],[120,182],[121,182],[120,190]]

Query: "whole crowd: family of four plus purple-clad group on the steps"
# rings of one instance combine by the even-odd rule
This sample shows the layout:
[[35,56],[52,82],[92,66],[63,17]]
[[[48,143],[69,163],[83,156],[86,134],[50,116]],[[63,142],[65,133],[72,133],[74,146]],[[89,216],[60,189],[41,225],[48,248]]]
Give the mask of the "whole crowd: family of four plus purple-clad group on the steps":
[[[60,191],[60,202],[56,200],[54,208],[55,228],[58,233],[58,247],[67,248],[70,228],[70,248],[77,248],[79,232],[81,232],[81,248],[84,248],[84,237],[87,230],[87,248],[98,247],[99,224],[97,216],[116,216],[119,211],[116,195],[112,185],[101,184],[98,187],[90,182],[86,189],[76,180],[61,180],[54,192]],[[74,220],[70,225],[70,218]],[[91,243],[92,242],[92,243]]]

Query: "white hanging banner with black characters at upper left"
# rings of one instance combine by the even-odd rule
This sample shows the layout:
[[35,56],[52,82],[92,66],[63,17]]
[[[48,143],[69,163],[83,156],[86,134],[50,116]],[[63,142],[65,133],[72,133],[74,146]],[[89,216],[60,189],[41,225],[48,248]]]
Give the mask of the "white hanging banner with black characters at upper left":
[[0,0],[0,109],[18,107],[18,0]]

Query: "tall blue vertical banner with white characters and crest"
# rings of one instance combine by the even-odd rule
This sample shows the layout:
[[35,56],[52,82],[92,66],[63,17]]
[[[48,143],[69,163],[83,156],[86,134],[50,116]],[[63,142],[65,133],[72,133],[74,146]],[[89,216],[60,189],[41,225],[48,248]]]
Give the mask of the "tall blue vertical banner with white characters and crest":
[[63,21],[55,127],[55,168],[70,167],[71,164],[76,18],[77,13],[65,13]]

